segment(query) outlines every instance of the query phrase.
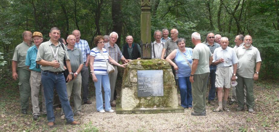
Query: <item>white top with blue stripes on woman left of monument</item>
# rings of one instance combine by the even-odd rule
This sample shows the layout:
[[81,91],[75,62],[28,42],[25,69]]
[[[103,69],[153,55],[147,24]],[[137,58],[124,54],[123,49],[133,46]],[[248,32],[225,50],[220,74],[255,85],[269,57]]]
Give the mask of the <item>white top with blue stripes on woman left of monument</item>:
[[[104,57],[108,60],[109,54],[105,48],[103,48],[103,55],[99,52],[97,47],[91,49],[90,56],[94,56],[94,73],[106,75],[107,74],[107,62]],[[103,57],[104,56],[104,57]]]

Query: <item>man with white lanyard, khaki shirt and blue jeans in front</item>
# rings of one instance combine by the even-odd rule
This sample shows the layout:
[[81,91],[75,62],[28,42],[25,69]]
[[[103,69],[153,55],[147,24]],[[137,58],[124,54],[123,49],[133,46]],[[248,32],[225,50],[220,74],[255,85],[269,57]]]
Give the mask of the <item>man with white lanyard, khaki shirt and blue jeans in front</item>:
[[[65,112],[65,118],[67,122],[72,125],[80,124],[78,121],[74,121],[74,113],[70,106],[70,102],[67,97],[67,88],[65,77],[62,74],[64,71],[64,58],[66,60],[67,69],[69,75],[67,82],[72,80],[72,68],[70,58],[64,44],[61,44],[58,39],[60,38],[60,30],[57,27],[51,28],[49,33],[50,40],[43,42],[37,54],[36,62],[41,65],[41,79],[44,86],[44,97],[47,108],[48,127],[54,126],[54,112],[53,112],[53,91],[54,87],[59,95],[59,99]],[[62,47],[63,46],[63,47]]]

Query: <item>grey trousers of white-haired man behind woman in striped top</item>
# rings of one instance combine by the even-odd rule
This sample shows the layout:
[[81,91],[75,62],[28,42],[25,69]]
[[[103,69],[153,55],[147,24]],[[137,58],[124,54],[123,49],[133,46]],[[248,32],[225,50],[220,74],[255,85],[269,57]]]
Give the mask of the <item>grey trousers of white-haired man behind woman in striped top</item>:
[[[115,90],[115,83],[117,80],[117,74],[118,74],[118,70],[117,70],[117,66],[113,65],[114,67],[114,72],[109,74],[109,78],[110,78],[110,103],[113,102],[113,97],[114,97],[114,90]],[[103,95],[103,102],[104,102],[104,89],[102,87],[102,95]]]

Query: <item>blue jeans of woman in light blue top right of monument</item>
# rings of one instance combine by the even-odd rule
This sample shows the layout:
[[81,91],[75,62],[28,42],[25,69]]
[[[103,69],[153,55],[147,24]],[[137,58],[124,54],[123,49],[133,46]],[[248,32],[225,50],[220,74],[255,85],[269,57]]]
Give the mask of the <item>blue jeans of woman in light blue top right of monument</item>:
[[192,86],[190,77],[179,77],[178,86],[180,89],[181,106],[184,108],[192,107]]

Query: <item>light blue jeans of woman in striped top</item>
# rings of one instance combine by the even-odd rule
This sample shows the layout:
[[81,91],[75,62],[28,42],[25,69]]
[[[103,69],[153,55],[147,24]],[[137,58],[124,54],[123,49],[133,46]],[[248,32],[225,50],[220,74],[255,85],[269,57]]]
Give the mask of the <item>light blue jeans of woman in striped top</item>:
[[103,95],[102,95],[102,84],[104,88],[104,96],[105,96],[105,110],[111,110],[110,106],[110,78],[109,75],[101,75],[95,74],[97,77],[97,82],[94,82],[95,89],[96,89],[96,108],[97,111],[103,110]]

